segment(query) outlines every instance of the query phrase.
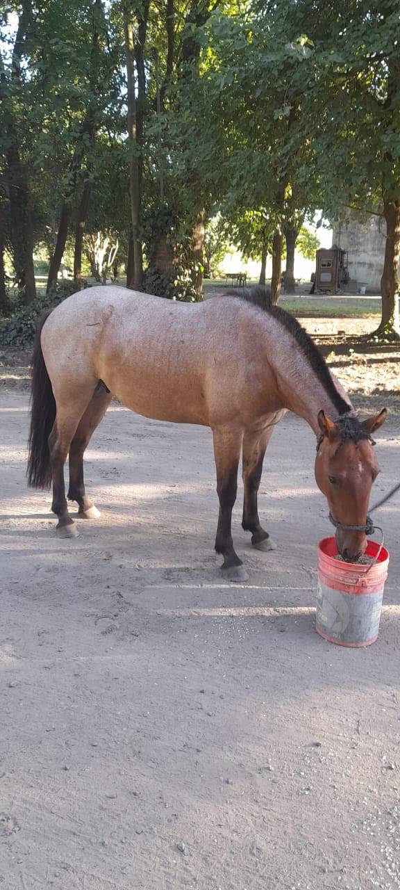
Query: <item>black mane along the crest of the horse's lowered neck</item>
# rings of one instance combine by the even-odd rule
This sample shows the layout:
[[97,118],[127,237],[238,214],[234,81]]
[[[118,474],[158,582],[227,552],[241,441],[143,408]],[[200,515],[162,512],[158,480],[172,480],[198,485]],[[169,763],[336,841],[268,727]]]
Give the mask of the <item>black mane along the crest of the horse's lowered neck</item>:
[[[238,288],[238,290],[229,291],[228,296],[236,296],[241,300],[245,300],[246,303],[252,303],[255,308],[268,312],[268,315],[272,315],[274,319],[279,321],[299,344],[301,352],[306,356],[320,383],[323,384],[325,392],[327,392],[332,400],[332,404],[338,411],[338,415],[348,414],[348,402],[342,398],[340,392],[336,389],[329,368],[318,347],[290,312],[285,312],[280,306],[272,303],[270,287]],[[356,417],[353,416],[352,420],[356,421],[356,425],[360,427],[360,430],[363,429]],[[347,433],[346,438],[348,438]],[[362,439],[365,437],[360,433],[358,438]]]

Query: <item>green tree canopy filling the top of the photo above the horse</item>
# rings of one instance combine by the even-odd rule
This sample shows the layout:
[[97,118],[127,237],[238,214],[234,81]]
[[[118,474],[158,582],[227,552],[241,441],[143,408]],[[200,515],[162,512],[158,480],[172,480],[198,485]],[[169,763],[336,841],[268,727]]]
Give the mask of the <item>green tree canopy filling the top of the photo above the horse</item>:
[[277,299],[284,240],[290,282],[303,223],[353,207],[386,221],[380,333],[398,336],[395,0],[21,0],[0,28],[3,294],[4,251],[29,303],[39,244],[50,291],[75,240],[80,286],[102,231],[128,285],[198,298],[218,209],[245,255],[272,253]]

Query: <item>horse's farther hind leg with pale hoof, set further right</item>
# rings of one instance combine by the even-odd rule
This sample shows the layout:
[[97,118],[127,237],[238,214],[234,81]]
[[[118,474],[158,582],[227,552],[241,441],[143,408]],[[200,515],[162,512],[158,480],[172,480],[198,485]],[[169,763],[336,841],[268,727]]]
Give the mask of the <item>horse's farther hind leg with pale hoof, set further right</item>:
[[98,384],[92,401],[89,403],[83,417],[79,421],[75,436],[69,448],[69,489],[68,500],[75,500],[79,507],[79,515],[84,519],[96,519],[100,516],[99,510],[84,490],[84,451],[87,448],[96,426],[104,417],[108,405],[112,399],[112,393],[107,392],[103,384]]

